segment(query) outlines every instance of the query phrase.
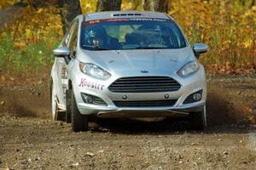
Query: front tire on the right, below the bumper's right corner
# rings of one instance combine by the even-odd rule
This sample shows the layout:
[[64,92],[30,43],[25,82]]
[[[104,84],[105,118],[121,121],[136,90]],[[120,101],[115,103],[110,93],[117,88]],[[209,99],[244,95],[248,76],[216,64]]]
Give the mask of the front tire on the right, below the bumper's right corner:
[[202,111],[189,113],[189,122],[192,130],[206,130],[208,127],[206,105]]

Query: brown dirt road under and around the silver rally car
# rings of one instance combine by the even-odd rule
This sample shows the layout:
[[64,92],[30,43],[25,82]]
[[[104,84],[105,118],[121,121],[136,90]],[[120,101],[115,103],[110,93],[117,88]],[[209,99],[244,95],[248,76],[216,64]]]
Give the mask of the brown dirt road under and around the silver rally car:
[[208,77],[211,128],[102,120],[72,133],[50,120],[46,81],[0,88],[0,169],[256,169],[256,77]]

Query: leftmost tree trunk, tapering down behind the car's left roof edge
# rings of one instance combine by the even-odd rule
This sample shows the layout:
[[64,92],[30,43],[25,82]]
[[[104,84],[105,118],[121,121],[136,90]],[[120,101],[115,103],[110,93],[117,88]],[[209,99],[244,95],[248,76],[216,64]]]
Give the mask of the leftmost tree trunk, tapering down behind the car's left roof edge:
[[61,7],[61,22],[63,34],[67,32],[73,19],[82,14],[79,0],[59,0],[59,6]]

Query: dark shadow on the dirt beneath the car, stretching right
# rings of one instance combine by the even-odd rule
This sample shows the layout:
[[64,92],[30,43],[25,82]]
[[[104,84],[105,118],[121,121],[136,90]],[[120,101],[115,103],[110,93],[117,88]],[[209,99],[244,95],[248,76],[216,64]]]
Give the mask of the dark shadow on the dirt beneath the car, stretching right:
[[[122,134],[168,135],[183,133],[252,133],[250,124],[236,123],[212,126],[207,130],[191,130],[186,118],[147,121],[137,119],[100,119],[97,126],[91,129],[94,133],[110,132]],[[255,132],[255,130],[253,130]]]

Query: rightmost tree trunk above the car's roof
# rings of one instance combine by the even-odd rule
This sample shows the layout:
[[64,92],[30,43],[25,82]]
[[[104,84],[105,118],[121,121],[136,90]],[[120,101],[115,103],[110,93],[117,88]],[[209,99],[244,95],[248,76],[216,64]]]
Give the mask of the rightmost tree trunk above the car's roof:
[[150,10],[168,14],[170,0],[151,0]]

